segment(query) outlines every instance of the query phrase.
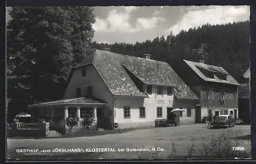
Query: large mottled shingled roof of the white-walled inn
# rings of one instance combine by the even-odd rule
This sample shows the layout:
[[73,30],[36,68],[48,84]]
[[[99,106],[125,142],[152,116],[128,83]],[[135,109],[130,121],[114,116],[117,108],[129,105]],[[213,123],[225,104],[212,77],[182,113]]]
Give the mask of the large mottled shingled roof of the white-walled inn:
[[[147,95],[138,89],[129,75],[131,72],[143,84],[172,86],[179,90],[177,98],[198,99],[184,81],[166,62],[127,56],[110,51],[95,50],[93,57],[86,58],[75,68],[93,64],[113,95]],[[130,72],[127,72],[127,70]]]

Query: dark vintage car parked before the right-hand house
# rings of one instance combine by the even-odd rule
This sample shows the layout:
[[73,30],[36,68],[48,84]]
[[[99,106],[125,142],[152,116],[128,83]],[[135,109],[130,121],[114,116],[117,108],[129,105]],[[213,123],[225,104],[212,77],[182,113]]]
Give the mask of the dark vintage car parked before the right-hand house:
[[231,115],[216,116],[215,120],[212,120],[212,127],[229,127],[234,126],[235,121]]

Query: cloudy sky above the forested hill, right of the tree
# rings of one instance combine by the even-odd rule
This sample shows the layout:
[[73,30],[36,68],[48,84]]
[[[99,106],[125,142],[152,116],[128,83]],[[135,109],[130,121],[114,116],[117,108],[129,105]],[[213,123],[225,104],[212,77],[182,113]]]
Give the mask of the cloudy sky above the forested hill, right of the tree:
[[[203,24],[249,20],[249,6],[118,6],[93,7],[93,41],[136,43],[178,34]],[[6,18],[9,15],[6,13]]]

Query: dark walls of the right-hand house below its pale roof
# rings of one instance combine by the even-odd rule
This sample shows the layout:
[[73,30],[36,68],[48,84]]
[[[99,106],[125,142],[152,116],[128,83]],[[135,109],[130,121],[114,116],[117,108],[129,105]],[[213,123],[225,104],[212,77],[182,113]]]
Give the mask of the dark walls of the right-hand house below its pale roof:
[[[220,111],[219,114],[236,113],[237,115],[234,117],[238,118],[238,85],[206,81],[183,60],[177,61],[173,68],[200,98],[201,110],[196,115],[201,116],[197,116],[198,118],[208,116],[209,111],[215,115],[215,110]],[[213,92],[213,98],[208,98],[209,91]],[[222,100],[222,92],[224,93],[224,100]],[[232,112],[230,112],[231,110]],[[198,120],[197,122],[200,121]]]

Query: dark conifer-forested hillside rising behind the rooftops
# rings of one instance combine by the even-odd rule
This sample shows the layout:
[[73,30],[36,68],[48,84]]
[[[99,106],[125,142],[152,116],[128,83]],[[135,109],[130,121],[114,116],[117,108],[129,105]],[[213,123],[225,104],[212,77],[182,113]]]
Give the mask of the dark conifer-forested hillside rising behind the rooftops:
[[[198,29],[181,31],[174,36],[156,37],[136,44],[92,43],[93,48],[111,48],[111,51],[142,57],[144,53],[152,59],[166,61],[175,67],[175,61],[187,59],[196,61],[198,52],[204,53],[206,64],[224,67],[240,81],[242,73],[250,64],[249,21],[234,22],[225,25],[203,25]],[[205,45],[203,49],[201,45]],[[199,50],[199,51],[198,51]]]

